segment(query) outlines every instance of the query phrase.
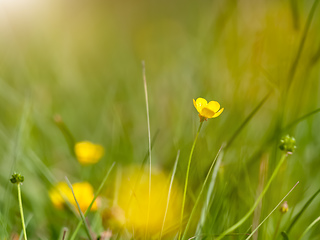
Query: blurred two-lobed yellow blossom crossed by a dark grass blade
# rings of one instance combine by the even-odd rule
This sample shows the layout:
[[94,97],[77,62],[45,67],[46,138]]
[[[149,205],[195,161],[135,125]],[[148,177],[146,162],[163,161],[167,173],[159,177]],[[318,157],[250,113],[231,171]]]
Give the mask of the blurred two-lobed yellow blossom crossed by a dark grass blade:
[[[80,182],[72,184],[74,195],[77,198],[80,209],[85,212],[89,207],[93,197],[93,188],[88,182]],[[73,206],[77,207],[77,203],[74,200],[73,194],[69,186],[65,182],[59,182],[55,188],[49,192],[49,197],[56,208],[63,208],[66,201],[70,202]],[[98,209],[97,200],[93,203],[91,211]]]

